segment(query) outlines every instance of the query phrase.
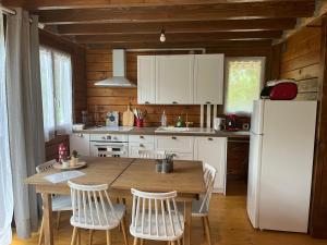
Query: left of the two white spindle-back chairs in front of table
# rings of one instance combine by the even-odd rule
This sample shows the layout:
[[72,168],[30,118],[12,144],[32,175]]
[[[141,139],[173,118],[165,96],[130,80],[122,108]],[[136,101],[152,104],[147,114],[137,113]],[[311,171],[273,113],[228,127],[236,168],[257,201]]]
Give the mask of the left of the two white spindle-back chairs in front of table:
[[94,230],[106,231],[107,245],[111,245],[110,230],[121,225],[125,245],[128,233],[125,226],[125,206],[112,204],[108,195],[108,185],[78,185],[69,181],[73,205],[71,224],[74,226],[72,243],[76,244],[81,229],[89,230],[89,244]]

